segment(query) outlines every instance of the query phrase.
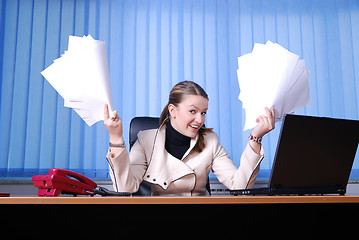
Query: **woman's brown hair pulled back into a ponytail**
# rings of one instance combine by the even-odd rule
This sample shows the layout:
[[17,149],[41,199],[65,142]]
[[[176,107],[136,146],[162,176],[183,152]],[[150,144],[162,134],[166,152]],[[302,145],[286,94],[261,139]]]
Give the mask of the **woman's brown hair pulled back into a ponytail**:
[[[192,81],[183,81],[183,82],[177,83],[172,88],[172,90],[170,92],[168,103],[162,110],[161,117],[160,117],[161,125],[164,123],[167,124],[169,122],[170,113],[168,110],[168,106],[170,104],[173,104],[174,106],[177,107],[178,104],[183,100],[184,96],[187,96],[187,95],[202,96],[202,97],[206,98],[207,100],[209,100],[207,93],[197,83],[192,82]],[[196,145],[193,148],[195,151],[202,152],[202,150],[205,147],[203,136],[207,132],[211,132],[211,131],[212,131],[211,128],[205,128],[204,126],[202,126],[198,130],[199,138],[198,138]]]

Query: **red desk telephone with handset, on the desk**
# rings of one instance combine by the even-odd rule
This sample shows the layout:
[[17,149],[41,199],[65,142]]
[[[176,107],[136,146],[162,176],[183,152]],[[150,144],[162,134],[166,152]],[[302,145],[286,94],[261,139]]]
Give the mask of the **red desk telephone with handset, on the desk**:
[[[72,177],[72,178],[70,178]],[[52,168],[49,175],[35,175],[32,182],[39,189],[38,196],[58,196],[60,193],[73,195],[95,195],[97,184],[73,171]]]

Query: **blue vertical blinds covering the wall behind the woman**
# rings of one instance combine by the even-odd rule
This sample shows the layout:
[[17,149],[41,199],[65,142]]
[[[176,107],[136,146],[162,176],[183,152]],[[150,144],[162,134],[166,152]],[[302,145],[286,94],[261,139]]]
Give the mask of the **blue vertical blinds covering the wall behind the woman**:
[[[69,35],[88,34],[106,42],[126,139],[133,117],[159,116],[172,86],[192,80],[210,98],[206,125],[238,166],[249,131],[237,58],[267,40],[310,70],[311,104],[298,114],[359,118],[356,0],[2,0],[1,177],[58,167],[109,178],[103,122],[88,127],[40,74],[67,49]],[[268,179],[279,131],[280,123],[263,140],[260,180]],[[358,155],[351,179],[359,179]]]

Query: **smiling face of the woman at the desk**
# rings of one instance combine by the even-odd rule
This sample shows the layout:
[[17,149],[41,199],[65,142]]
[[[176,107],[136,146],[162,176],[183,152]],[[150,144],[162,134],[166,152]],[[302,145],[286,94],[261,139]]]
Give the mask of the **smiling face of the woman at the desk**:
[[186,95],[177,107],[168,106],[171,124],[181,134],[195,138],[206,119],[208,99],[198,95]]

